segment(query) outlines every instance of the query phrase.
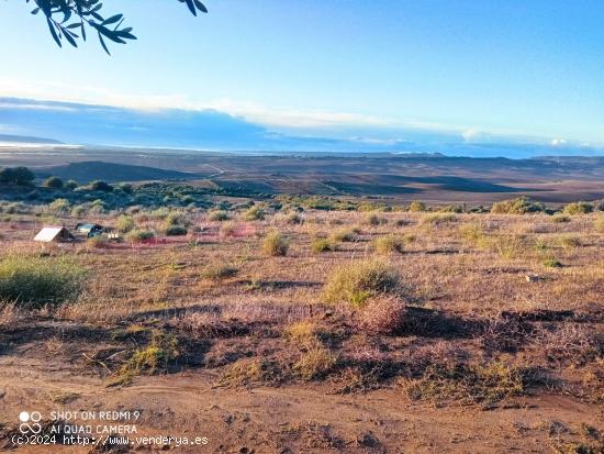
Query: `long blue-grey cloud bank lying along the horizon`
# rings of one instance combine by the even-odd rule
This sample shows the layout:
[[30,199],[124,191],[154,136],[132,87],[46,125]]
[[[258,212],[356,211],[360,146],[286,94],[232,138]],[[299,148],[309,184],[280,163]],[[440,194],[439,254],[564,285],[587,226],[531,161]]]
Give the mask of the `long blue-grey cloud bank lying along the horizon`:
[[[236,110],[233,106],[223,109]],[[1,131],[42,136],[70,144],[172,147],[211,151],[316,153],[443,153],[473,157],[604,155],[597,147],[560,139],[532,141],[478,130],[443,131],[401,126],[353,114],[289,112],[275,115],[257,109],[250,119],[215,108],[160,109],[79,102],[0,98]],[[253,117],[253,115],[251,115]],[[279,117],[280,122],[277,120]]]

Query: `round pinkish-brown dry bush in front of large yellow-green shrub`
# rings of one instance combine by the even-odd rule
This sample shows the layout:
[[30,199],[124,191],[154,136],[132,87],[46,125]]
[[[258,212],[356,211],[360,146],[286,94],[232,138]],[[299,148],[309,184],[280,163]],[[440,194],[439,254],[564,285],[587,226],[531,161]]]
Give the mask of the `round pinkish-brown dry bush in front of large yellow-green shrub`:
[[372,334],[395,335],[405,319],[405,304],[394,296],[371,298],[356,314],[358,326]]

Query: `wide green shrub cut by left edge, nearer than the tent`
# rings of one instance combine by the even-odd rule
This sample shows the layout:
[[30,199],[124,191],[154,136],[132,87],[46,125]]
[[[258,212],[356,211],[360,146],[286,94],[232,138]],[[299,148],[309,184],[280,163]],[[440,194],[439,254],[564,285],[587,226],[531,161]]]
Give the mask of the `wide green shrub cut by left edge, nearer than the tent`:
[[0,301],[29,308],[77,299],[86,273],[66,259],[8,256],[0,261]]

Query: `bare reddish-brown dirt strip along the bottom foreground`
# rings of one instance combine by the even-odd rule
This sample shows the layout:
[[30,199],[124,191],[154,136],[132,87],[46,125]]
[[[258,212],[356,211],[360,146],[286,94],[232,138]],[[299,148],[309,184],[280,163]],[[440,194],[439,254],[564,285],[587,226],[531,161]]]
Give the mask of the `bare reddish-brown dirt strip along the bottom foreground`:
[[[215,389],[213,377],[200,372],[141,377],[130,387],[107,388],[101,379],[61,374],[52,364],[14,357],[0,364],[0,408],[9,429],[16,429],[23,409],[43,414],[141,410],[136,423],[139,436],[209,439],[205,446],[175,452],[540,453],[553,452],[551,445],[558,436],[572,440],[577,421],[602,424],[601,414],[559,396],[494,409],[432,408],[406,401],[395,386],[361,395],[331,395],[325,388],[310,386]],[[52,391],[79,397],[53,403]],[[54,446],[52,452],[89,450]],[[49,451],[21,446],[16,452]]]

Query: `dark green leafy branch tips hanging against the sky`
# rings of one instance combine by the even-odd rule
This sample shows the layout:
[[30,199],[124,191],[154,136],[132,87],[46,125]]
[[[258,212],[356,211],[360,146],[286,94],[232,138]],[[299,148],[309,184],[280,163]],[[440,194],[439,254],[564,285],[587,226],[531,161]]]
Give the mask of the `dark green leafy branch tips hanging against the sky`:
[[[100,0],[25,0],[27,3],[35,3],[32,14],[42,12],[46,19],[51,36],[59,47],[63,47],[63,40],[74,47],[78,46],[78,40],[86,41],[86,27],[89,26],[97,32],[99,42],[109,54],[105,40],[118,44],[126,44],[127,41],[136,40],[132,34],[131,26],[123,26],[123,14],[113,14],[109,18],[103,15],[103,3]],[[178,0],[187,3],[191,14],[197,15],[198,11],[203,13],[208,9],[200,0]]]

